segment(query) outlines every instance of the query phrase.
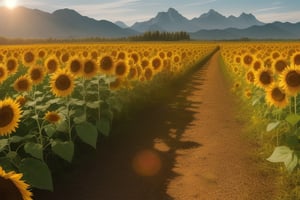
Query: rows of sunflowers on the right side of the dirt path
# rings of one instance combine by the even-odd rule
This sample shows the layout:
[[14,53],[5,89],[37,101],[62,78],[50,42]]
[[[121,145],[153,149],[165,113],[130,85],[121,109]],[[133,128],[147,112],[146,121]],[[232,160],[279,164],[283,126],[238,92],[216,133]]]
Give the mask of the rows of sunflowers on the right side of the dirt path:
[[224,43],[222,58],[233,91],[265,123],[258,131],[273,151],[267,160],[291,173],[300,164],[300,43]]

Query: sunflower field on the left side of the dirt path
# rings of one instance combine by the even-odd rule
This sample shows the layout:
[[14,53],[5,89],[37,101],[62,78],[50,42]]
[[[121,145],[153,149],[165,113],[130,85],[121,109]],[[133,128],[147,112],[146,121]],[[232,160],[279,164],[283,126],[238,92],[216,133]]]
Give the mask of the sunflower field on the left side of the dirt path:
[[29,185],[53,190],[51,158],[72,162],[76,140],[96,148],[135,88],[180,77],[215,49],[213,43],[2,46],[0,173],[15,176],[23,199],[31,199]]

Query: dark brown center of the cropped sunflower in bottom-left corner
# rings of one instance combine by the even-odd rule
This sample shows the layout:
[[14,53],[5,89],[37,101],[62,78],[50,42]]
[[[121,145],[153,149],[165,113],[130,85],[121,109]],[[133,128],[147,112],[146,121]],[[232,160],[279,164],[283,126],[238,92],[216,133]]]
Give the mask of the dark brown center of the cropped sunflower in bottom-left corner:
[[1,200],[23,200],[22,194],[11,180],[0,177],[0,188]]

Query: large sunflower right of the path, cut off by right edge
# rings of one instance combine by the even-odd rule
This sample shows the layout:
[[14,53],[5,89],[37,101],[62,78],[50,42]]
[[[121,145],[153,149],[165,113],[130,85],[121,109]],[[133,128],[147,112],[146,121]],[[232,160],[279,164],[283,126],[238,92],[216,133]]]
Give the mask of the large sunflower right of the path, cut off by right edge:
[[279,85],[284,91],[291,95],[297,95],[300,92],[300,68],[288,66],[279,76]]

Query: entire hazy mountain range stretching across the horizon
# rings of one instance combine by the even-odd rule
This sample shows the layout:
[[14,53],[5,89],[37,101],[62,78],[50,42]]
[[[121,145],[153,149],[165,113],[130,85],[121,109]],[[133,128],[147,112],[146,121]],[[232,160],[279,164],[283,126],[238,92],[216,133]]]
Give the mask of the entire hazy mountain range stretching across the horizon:
[[0,7],[0,27],[0,37],[30,39],[122,38],[157,30],[186,31],[192,39],[199,40],[300,38],[300,23],[265,24],[252,14],[226,17],[212,9],[199,17],[187,19],[174,8],[169,8],[148,21],[136,22],[129,27],[122,21],[96,20],[67,8],[48,13],[25,7],[13,11]]

